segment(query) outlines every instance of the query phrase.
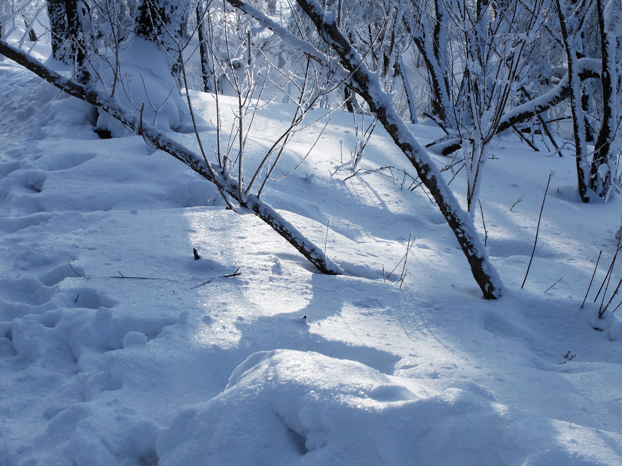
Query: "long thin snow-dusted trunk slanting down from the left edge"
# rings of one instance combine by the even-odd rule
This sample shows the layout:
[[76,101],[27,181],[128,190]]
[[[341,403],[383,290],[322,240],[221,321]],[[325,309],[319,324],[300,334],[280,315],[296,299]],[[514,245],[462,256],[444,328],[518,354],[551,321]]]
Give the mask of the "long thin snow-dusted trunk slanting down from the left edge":
[[119,105],[113,98],[105,96],[93,86],[84,86],[73,80],[68,80],[2,40],[0,40],[0,54],[14,60],[19,63],[19,65],[24,66],[24,68],[32,71],[35,75],[48,81],[58,89],[62,89],[65,93],[103,109],[111,116],[121,121],[129,129],[137,134],[141,134],[159,150],[169,153],[177,158],[177,160],[180,160],[188,167],[192,168],[192,170],[196,171],[199,175],[215,183],[221,190],[226,191],[224,193],[226,196],[236,199],[244,210],[253,212],[262,219],[262,221],[271,226],[274,231],[284,237],[284,239],[294,246],[300,254],[304,255],[309,262],[313,263],[320,272],[327,275],[343,274],[343,271],[337,264],[325,257],[320,247],[313,244],[312,241],[295,229],[295,227],[287,222],[272,208],[272,206],[256,196],[248,195],[244,196],[244,198],[239,198],[238,186],[236,183],[233,183],[233,181],[229,179],[222,179],[221,176],[218,175],[220,171],[217,173],[216,170],[213,170],[210,164],[206,163],[207,160],[203,160],[202,157],[195,152],[171,139],[155,126],[152,126],[146,121],[141,121],[139,116],[136,116],[128,111],[128,109]]

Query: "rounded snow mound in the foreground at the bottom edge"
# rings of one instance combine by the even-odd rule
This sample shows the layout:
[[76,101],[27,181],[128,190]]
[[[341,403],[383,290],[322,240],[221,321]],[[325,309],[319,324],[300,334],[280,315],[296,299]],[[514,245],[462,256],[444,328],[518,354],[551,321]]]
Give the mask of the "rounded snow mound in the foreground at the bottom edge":
[[157,441],[160,465],[521,464],[504,447],[499,405],[424,388],[314,352],[251,355],[228,388],[174,419]]

